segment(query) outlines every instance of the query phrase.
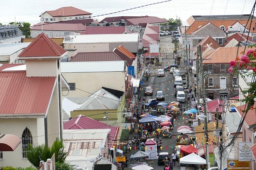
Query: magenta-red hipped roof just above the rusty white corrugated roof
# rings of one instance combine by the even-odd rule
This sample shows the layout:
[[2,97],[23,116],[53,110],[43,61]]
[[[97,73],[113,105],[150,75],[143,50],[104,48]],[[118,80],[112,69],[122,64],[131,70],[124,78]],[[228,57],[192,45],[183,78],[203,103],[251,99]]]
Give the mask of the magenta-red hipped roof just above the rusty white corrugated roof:
[[[118,134],[118,128],[108,125],[110,131],[110,139],[116,139]],[[75,118],[63,123],[63,129],[107,129],[106,123],[94,120],[84,115],[78,115]]]

